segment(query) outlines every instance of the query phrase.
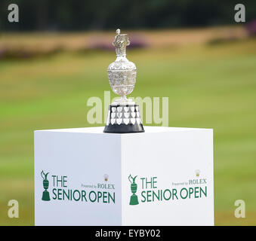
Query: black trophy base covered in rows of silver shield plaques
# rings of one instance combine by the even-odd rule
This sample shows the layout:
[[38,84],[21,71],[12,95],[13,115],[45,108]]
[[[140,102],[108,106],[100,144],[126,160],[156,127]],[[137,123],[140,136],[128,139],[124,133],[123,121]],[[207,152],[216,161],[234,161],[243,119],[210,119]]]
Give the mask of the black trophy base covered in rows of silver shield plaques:
[[109,105],[104,133],[143,133],[139,105]]

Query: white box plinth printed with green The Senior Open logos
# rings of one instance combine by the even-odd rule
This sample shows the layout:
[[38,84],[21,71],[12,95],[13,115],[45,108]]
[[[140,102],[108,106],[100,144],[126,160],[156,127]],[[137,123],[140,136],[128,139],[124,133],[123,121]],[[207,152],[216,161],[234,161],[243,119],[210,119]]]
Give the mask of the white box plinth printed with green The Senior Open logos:
[[[42,200],[42,170],[49,201]],[[137,205],[130,205],[130,174],[137,175]],[[35,225],[213,224],[211,129],[35,131]]]

